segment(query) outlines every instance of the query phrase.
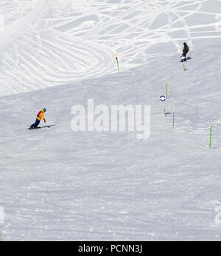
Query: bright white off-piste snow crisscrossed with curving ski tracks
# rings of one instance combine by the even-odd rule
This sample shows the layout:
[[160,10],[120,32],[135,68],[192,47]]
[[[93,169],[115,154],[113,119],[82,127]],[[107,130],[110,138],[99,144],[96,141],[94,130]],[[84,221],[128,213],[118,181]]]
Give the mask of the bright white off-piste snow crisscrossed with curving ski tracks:
[[113,73],[115,53],[127,70],[180,53],[183,41],[193,50],[194,42],[221,38],[216,2],[209,10],[209,0],[3,1],[0,94]]

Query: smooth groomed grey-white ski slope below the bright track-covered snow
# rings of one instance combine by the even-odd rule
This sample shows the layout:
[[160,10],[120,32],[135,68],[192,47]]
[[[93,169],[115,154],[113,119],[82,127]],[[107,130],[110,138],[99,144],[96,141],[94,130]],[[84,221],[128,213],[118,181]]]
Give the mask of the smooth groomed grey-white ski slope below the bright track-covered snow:
[[[220,49],[215,44],[192,58],[185,72],[175,55],[166,68],[153,61],[1,98],[3,239],[220,240]],[[175,98],[175,128],[158,100],[170,70],[166,112]],[[88,98],[96,105],[150,104],[150,138],[72,132],[71,107],[86,106]],[[27,130],[42,106],[54,126]]]

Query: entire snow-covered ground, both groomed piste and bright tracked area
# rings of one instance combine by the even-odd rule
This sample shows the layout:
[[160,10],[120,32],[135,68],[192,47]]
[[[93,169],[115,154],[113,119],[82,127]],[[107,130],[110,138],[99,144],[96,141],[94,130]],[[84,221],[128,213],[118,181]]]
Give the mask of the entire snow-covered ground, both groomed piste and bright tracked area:
[[[1,239],[221,240],[221,1],[0,6]],[[88,98],[150,105],[150,138],[73,132]]]

